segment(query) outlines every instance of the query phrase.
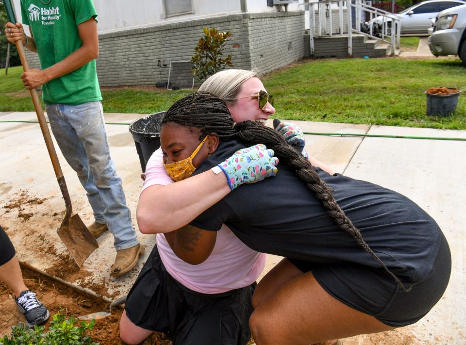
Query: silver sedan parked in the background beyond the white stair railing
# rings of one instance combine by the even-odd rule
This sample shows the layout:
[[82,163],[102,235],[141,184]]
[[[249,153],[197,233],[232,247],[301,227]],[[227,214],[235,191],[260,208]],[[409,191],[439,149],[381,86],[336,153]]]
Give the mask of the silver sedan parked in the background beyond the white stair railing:
[[[438,12],[465,4],[462,0],[429,0],[423,1],[397,13],[401,19],[401,33],[428,33],[432,26],[432,20]],[[376,18],[378,24],[382,25],[383,18]],[[390,19],[388,20],[390,21]],[[388,23],[390,27],[391,23]]]

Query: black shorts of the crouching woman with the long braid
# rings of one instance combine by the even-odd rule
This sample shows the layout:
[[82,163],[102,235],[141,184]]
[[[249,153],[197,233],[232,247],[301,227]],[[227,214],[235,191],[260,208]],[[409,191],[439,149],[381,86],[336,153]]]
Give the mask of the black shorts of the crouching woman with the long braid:
[[402,327],[416,323],[440,300],[451,271],[450,249],[443,233],[427,277],[409,292],[398,287],[385,270],[358,264],[314,264],[288,259],[302,272],[311,271],[317,282],[346,305],[372,315],[385,325]]

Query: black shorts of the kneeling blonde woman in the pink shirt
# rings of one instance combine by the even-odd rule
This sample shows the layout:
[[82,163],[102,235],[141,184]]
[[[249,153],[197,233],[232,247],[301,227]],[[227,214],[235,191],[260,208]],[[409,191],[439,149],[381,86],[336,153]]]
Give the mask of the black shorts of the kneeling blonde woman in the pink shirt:
[[154,246],[128,294],[126,315],[143,329],[169,333],[174,345],[245,345],[255,286],[215,295],[189,290],[169,275]]

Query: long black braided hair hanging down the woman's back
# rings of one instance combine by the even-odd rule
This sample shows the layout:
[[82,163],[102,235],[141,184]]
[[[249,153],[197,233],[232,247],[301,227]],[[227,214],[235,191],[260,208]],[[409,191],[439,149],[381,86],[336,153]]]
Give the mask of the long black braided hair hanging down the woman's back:
[[305,181],[308,188],[322,201],[338,227],[353,237],[358,245],[364,248],[405,291],[410,290],[404,287],[401,280],[367,245],[361,232],[336,202],[332,188],[319,177],[311,163],[300,152],[288,145],[277,131],[254,121],[234,124],[233,117],[225,102],[208,92],[195,92],[176,101],[164,115],[162,125],[168,122],[198,128],[202,133],[201,137],[216,132],[222,141],[236,139],[246,146],[265,144],[267,148],[273,149],[280,164],[294,168],[300,179]]

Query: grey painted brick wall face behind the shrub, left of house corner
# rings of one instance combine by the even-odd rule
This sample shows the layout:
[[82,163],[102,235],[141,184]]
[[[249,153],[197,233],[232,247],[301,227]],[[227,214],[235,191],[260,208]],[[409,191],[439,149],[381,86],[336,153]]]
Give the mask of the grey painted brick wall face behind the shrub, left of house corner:
[[154,85],[167,81],[170,62],[191,59],[203,27],[230,30],[233,37],[224,54],[232,55],[234,66],[250,68],[248,31],[242,22],[240,15],[223,16],[101,34],[97,59],[100,86]]

